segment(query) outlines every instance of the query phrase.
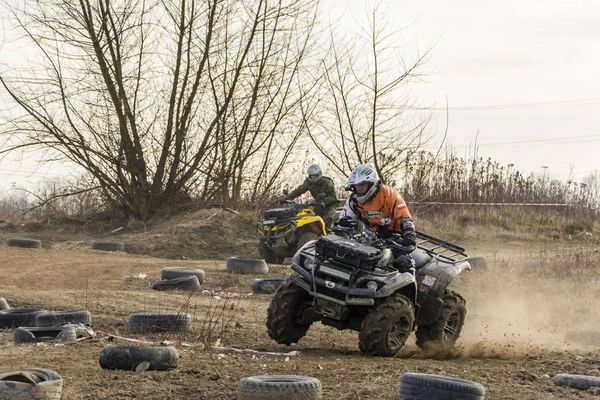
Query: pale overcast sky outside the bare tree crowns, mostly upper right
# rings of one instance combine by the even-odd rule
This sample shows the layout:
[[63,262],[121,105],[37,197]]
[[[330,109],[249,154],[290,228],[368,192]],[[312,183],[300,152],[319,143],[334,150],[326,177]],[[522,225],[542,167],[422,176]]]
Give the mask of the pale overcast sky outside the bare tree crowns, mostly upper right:
[[[434,46],[427,83],[434,131],[459,155],[478,154],[525,173],[575,180],[600,168],[600,1],[420,0],[382,2],[419,48]],[[345,26],[362,23],[364,0],[325,0]],[[470,150],[472,154],[472,147]],[[33,174],[30,171],[34,171]],[[62,174],[31,162],[0,163],[0,186]]]

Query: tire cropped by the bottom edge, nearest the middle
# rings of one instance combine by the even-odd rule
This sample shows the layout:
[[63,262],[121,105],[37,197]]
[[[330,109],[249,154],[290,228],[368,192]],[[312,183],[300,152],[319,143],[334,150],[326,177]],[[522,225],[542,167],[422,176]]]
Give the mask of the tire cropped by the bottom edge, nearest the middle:
[[238,381],[238,400],[313,400],[322,398],[321,382],[310,376],[249,376]]

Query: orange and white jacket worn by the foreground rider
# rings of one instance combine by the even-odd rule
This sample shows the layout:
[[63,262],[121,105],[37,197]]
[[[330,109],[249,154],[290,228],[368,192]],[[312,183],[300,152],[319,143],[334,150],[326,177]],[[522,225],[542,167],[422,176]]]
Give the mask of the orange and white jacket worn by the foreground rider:
[[379,236],[394,232],[404,236],[415,234],[415,224],[408,207],[400,194],[391,186],[379,184],[375,195],[366,203],[359,203],[354,194],[346,200],[340,218],[349,217],[361,220]]

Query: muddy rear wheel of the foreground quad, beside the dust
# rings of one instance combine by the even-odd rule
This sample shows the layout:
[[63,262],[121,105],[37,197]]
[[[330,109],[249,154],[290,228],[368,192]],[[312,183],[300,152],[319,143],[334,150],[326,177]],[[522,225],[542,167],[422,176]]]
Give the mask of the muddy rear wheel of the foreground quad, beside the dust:
[[417,328],[417,346],[421,349],[439,347],[447,350],[454,347],[460,336],[467,316],[465,300],[458,293],[446,291],[442,301],[444,305],[438,319]]

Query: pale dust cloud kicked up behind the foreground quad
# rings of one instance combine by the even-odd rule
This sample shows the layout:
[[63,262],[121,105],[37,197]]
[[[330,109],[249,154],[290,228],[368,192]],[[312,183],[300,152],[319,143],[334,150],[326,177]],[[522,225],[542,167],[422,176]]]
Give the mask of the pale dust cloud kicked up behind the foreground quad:
[[465,271],[451,289],[467,301],[453,357],[511,358],[600,347],[597,247],[498,244],[485,270]]

